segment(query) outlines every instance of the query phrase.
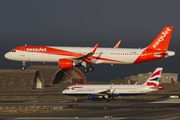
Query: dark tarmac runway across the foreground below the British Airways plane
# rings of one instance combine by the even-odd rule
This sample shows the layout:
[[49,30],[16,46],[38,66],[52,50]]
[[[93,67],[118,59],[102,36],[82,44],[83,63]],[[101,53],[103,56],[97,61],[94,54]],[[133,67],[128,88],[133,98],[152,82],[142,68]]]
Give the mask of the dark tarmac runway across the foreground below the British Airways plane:
[[[62,110],[54,113],[38,114],[8,114],[0,115],[2,119],[31,120],[31,119],[154,119],[154,120],[179,120],[180,119],[180,99],[120,99],[105,102],[79,100],[1,100],[0,106],[23,106],[23,105],[52,105],[68,106],[77,104],[79,108]],[[106,108],[106,109],[105,109]]]

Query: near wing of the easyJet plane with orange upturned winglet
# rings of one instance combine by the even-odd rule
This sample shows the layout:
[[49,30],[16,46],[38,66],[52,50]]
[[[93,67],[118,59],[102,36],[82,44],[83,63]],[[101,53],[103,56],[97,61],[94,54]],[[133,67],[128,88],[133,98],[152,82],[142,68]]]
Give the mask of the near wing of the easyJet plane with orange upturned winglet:
[[93,48],[93,50],[90,53],[83,55],[83,56],[80,56],[80,57],[76,57],[74,59],[81,59],[88,64],[92,64],[93,54],[96,52],[98,45],[99,45],[99,43],[96,44],[96,46]]

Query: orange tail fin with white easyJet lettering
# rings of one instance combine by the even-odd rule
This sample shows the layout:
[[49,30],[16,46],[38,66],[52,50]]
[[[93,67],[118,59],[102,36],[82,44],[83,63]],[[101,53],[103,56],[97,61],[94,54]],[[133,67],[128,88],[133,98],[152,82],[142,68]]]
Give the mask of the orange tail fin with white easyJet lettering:
[[147,49],[156,49],[167,51],[173,26],[166,26],[163,31],[155,38],[155,40],[147,47]]

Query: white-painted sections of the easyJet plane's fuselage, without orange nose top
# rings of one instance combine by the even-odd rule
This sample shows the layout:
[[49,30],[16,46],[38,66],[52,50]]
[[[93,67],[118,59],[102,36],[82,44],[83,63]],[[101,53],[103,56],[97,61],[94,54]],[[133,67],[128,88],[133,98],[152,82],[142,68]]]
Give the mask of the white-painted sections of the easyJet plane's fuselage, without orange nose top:
[[[51,47],[57,50],[63,50],[68,52],[58,51],[21,51],[8,52],[5,57],[15,61],[26,62],[58,62],[59,59],[75,58],[78,54],[88,54],[93,48],[89,47]],[[73,52],[73,55],[70,52]],[[113,64],[131,64],[137,57],[143,52],[142,49],[114,49],[114,48],[98,48],[93,57],[94,64],[99,63],[113,63]]]

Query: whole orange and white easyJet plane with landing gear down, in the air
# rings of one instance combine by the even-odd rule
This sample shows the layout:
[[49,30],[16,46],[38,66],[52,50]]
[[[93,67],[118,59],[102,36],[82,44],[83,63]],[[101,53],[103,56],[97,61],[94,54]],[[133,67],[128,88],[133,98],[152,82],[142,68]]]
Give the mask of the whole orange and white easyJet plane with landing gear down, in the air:
[[[174,56],[167,51],[173,26],[166,26],[155,40],[146,48],[100,48],[56,47],[56,46],[20,46],[5,54],[5,58],[25,62],[57,62],[60,68],[72,69],[84,66],[83,71],[93,71],[93,64],[134,64]],[[87,68],[87,64],[90,65]]]

